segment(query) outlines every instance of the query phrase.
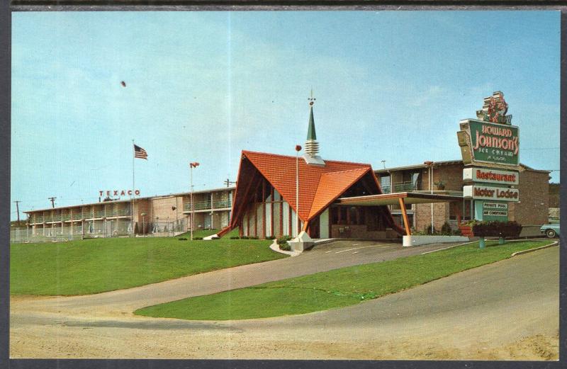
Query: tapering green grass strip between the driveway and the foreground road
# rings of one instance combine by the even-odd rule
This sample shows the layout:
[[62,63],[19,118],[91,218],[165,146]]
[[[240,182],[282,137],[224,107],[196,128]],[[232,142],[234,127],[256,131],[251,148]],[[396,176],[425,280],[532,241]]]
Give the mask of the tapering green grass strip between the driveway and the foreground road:
[[214,295],[145,307],[135,314],[192,320],[227,320],[304,314],[354,305],[502,259],[545,241],[478,242],[431,254],[336,269]]

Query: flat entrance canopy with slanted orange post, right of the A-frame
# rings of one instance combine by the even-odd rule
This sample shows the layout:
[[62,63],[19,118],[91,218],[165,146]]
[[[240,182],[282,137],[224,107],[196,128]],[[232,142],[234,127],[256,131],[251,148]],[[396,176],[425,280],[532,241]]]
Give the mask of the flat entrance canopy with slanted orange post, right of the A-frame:
[[405,204],[447,203],[450,201],[461,201],[461,200],[463,200],[463,197],[456,195],[439,195],[437,193],[398,192],[398,193],[383,193],[380,195],[356,196],[352,198],[337,198],[337,200],[335,200],[335,205],[376,206],[376,205],[399,204],[402,210],[403,224],[405,226],[405,234],[411,235],[410,224],[408,222],[408,213],[405,211]]

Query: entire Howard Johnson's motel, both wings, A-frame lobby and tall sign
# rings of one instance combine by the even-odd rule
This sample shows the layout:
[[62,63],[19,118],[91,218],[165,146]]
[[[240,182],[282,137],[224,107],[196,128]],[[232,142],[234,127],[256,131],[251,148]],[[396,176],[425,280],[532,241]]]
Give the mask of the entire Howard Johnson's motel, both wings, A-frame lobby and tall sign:
[[[397,239],[453,230],[468,220],[548,221],[549,171],[521,164],[518,127],[506,115],[503,93],[484,99],[478,119],[459,122],[462,160],[373,170],[370,164],[323,159],[310,100],[304,154],[242,151],[237,186],[193,193],[103,200],[32,210],[31,236],[172,235],[193,229],[239,229],[247,237]],[[505,143],[500,149],[495,144]],[[101,191],[113,195],[116,191]],[[539,233],[539,232],[538,232]]]

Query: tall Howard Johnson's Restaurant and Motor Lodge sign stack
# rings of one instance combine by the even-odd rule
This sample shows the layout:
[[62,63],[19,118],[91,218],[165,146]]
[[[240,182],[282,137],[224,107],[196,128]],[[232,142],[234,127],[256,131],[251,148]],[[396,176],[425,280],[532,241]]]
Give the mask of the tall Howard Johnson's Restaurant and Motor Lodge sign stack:
[[520,201],[520,130],[506,115],[504,94],[484,98],[477,119],[459,122],[457,132],[465,168],[463,197],[473,200],[474,219],[508,220],[508,203]]

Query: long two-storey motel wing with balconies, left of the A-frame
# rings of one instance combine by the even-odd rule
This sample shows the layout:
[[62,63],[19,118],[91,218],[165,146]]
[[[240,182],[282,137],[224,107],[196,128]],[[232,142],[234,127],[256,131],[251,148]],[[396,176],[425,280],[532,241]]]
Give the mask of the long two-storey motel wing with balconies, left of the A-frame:
[[[135,200],[111,200],[124,191],[100,191],[106,200],[86,205],[72,205],[30,210],[30,237],[116,237],[127,234],[176,234],[190,229],[222,229],[228,226],[234,187],[191,193],[176,193]],[[130,191],[134,192],[134,191]],[[139,191],[136,191],[139,193]],[[125,191],[128,195],[128,191]]]

